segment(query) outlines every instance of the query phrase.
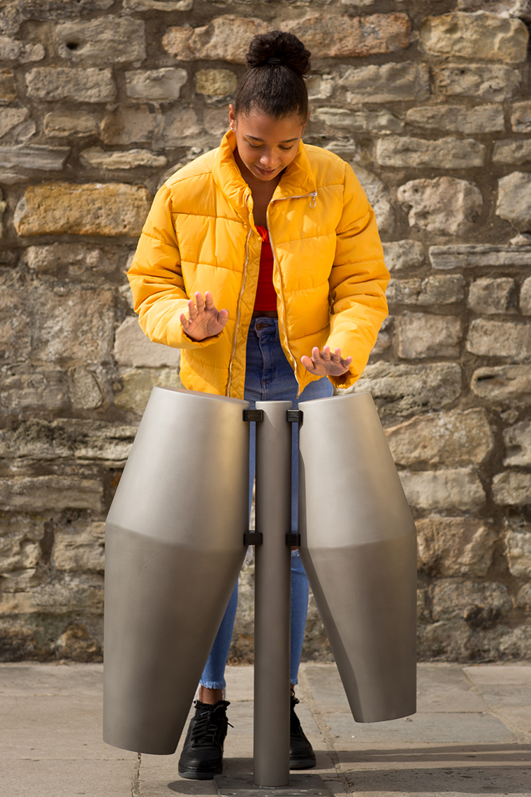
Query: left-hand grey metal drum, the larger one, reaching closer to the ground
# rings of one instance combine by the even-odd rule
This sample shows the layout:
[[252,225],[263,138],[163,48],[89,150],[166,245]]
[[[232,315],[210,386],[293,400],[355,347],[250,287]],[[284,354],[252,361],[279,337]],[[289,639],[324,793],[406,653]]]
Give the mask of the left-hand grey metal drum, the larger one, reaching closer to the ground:
[[106,525],[103,739],[175,751],[243,563],[248,402],[155,387]]

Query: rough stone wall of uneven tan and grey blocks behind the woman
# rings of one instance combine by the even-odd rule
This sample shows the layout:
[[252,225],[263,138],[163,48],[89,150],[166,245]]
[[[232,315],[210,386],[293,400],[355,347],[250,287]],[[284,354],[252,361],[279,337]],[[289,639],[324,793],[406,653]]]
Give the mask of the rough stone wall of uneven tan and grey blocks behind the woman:
[[[390,316],[356,390],[417,520],[420,655],[531,654],[528,6],[0,0],[0,658],[101,655],[105,514],[151,387],[180,384],[127,262],[273,28],[312,51],[306,141],[353,164],[385,241]],[[312,607],[306,656],[327,655]]]

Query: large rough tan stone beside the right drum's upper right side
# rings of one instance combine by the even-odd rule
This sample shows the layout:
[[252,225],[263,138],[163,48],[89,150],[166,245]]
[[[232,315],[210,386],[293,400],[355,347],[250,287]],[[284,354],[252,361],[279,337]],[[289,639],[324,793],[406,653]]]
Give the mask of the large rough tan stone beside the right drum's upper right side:
[[480,465],[494,450],[483,409],[420,415],[385,430],[399,465]]

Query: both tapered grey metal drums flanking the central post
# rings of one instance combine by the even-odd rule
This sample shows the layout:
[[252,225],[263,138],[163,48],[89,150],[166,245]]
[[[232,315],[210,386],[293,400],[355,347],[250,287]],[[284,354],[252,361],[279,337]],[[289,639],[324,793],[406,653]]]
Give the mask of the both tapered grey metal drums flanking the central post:
[[[245,409],[192,391],[150,396],[107,517],[103,739],[115,747],[177,748],[244,560]],[[353,717],[405,717],[416,710],[416,532],[380,419],[369,393],[301,409],[300,552]]]

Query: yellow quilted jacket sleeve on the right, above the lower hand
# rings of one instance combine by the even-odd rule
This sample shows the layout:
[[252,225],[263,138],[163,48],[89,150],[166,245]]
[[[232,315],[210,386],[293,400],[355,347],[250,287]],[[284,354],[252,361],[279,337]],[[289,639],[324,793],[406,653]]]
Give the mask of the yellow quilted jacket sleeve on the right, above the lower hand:
[[331,350],[353,357],[350,370],[331,377],[336,387],[350,387],[361,376],[387,316],[385,289],[389,273],[374,211],[349,165],[345,164],[343,213],[337,227],[330,274]]

